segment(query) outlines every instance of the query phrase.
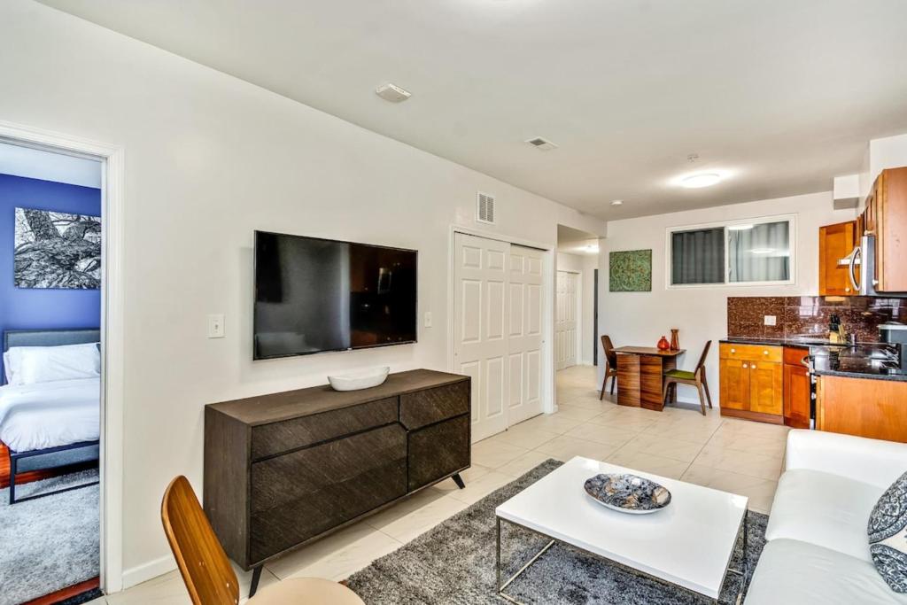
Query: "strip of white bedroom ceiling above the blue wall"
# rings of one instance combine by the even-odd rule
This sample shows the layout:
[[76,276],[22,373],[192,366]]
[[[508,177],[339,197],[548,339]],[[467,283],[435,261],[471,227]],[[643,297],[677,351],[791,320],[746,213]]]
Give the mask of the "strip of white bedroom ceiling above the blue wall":
[[0,142],[0,174],[101,189],[101,162]]

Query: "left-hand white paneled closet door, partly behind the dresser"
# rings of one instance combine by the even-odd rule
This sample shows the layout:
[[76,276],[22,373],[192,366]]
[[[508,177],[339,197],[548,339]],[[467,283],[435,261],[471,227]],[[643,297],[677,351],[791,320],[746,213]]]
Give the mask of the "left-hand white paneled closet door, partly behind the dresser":
[[511,245],[456,233],[453,363],[473,379],[473,442],[507,428],[507,284]]

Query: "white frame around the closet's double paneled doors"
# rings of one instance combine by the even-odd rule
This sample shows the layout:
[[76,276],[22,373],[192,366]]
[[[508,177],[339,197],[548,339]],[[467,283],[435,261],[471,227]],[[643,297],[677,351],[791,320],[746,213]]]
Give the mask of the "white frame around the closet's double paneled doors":
[[[541,366],[544,368],[541,375],[541,412],[542,414],[552,414],[557,412],[558,408],[554,400],[554,304],[555,292],[553,288],[554,278],[556,277],[555,266],[555,247],[551,244],[544,244],[532,239],[514,238],[509,235],[502,235],[494,231],[484,229],[473,229],[463,227],[462,225],[451,225],[448,230],[447,242],[447,369],[454,372],[453,356],[453,321],[454,310],[456,309],[456,300],[453,294],[456,290],[456,284],[453,277],[453,265],[456,253],[456,234],[471,235],[476,238],[494,239],[516,246],[534,248],[541,250],[541,298],[543,307],[541,309]],[[510,267],[507,268],[510,271]],[[547,295],[547,296],[546,296]],[[510,426],[510,418],[507,425]]]

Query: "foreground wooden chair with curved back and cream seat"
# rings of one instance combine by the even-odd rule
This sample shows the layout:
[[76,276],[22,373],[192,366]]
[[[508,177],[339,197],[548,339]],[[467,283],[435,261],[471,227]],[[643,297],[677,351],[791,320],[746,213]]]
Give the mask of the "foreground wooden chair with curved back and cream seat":
[[[236,573],[186,477],[180,475],[167,486],[161,503],[161,522],[192,602],[237,605]],[[319,578],[290,578],[265,586],[248,602],[249,605],[365,605],[346,586]]]

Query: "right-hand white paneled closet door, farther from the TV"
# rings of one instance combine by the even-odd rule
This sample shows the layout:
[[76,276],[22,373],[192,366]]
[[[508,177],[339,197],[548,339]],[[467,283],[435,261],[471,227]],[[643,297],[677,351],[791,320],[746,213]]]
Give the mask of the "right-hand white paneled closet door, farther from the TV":
[[512,245],[507,297],[509,424],[541,414],[541,250]]

